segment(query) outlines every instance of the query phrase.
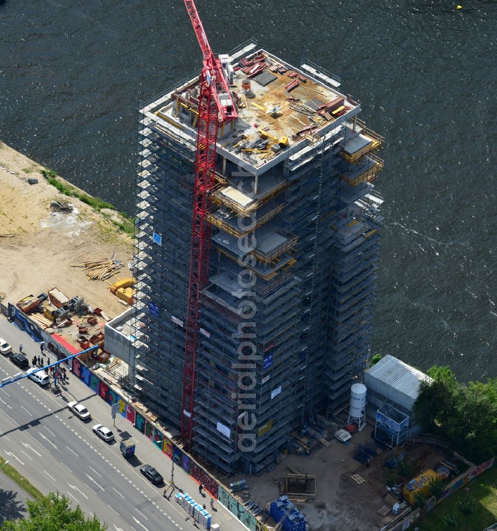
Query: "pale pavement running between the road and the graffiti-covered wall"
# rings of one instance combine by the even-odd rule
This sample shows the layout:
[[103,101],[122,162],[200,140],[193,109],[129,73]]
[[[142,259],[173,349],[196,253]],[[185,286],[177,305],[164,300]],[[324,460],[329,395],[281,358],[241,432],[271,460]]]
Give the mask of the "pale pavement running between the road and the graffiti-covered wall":
[[[28,358],[30,363],[33,356],[36,355],[38,357],[41,354],[39,343],[33,341],[27,333],[16,328],[14,324],[8,322],[7,319],[1,315],[0,337],[3,337],[11,345],[12,350],[15,353],[19,351],[19,345],[22,343],[22,353]],[[50,358],[50,363],[56,361],[55,356],[49,353],[48,350],[44,351],[44,355],[45,361],[47,356]],[[15,372],[18,372],[17,367],[12,365],[12,374]],[[88,407],[92,415],[99,418],[99,422],[106,424],[112,430],[114,424],[110,412],[110,406],[107,402],[102,400],[98,395],[95,395],[95,393],[79,380],[77,376],[74,376],[70,372],[67,372],[67,375],[70,375],[70,378],[69,382],[64,384],[65,389],[67,389],[64,394],[74,397],[75,400],[82,400],[85,397],[90,397],[90,403],[88,403],[88,400],[85,400],[85,406]],[[136,443],[136,459],[130,459],[128,461],[130,466],[136,468],[137,472],[140,473],[138,468],[142,464],[151,465],[164,477],[164,482],[166,484],[170,482],[173,461],[169,459],[164,452],[158,449],[152,441],[147,439],[138,430],[135,430],[134,426],[127,422],[122,415],[116,415],[116,431],[118,432],[116,437],[117,443],[128,436],[131,436]],[[123,461],[125,461],[124,458]],[[175,501],[176,492],[187,492],[197,503],[200,503],[201,505],[205,503],[205,508],[212,517],[211,523],[219,524],[220,531],[244,531],[245,529],[248,529],[217,500],[214,501],[215,510],[212,510],[210,508],[211,496],[209,493],[202,491],[202,494],[199,494],[198,482],[196,482],[190,475],[186,474],[186,472],[176,464],[174,467],[174,485],[176,485],[177,489],[170,496],[169,494],[172,492],[171,489],[167,491],[167,498],[164,500],[165,503],[173,503],[177,506]],[[185,520],[191,521],[184,509],[179,506],[177,506],[177,508],[184,513]]]

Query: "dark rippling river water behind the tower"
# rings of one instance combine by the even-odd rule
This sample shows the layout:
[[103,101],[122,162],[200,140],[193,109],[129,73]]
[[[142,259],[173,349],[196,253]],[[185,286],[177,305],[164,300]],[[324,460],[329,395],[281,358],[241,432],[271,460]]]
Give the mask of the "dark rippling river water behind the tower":
[[[198,0],[212,48],[254,37],[343,80],[385,136],[375,352],[497,375],[495,0]],[[0,139],[133,212],[140,101],[201,66],[181,0],[7,0]]]

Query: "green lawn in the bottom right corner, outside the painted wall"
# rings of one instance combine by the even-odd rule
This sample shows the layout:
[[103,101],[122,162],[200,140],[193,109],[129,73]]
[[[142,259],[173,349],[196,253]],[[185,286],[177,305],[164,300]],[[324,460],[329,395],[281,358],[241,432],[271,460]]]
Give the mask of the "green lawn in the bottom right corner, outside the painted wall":
[[[465,490],[469,489],[469,490]],[[466,529],[466,517],[457,509],[456,502],[467,496],[473,496],[477,501],[477,508],[468,517],[467,529],[485,529],[497,521],[497,468],[491,468],[479,475],[455,494],[440,502],[432,511],[416,522],[420,531],[445,531],[450,528],[440,519],[440,515],[455,512],[457,515],[457,529]]]

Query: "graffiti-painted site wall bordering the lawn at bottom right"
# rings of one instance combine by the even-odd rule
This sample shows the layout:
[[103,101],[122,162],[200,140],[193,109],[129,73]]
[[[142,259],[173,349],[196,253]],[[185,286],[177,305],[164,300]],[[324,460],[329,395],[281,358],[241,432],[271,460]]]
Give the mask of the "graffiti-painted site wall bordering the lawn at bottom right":
[[432,509],[434,509],[440,502],[446,498],[449,498],[449,496],[451,496],[453,493],[457,492],[467,483],[475,479],[475,477],[483,474],[485,470],[492,468],[494,466],[495,460],[496,458],[492,457],[492,459],[485,461],[485,463],[482,463],[481,465],[474,465],[468,468],[466,472],[452,479],[452,481],[447,484],[445,490],[442,492],[442,494],[440,494],[440,496],[438,496],[438,498],[431,496],[431,498],[427,499],[423,509],[409,507],[387,525],[383,526],[381,531],[387,531],[387,529],[391,531],[404,531],[405,529],[409,529],[410,526],[415,524],[427,512],[430,512]]

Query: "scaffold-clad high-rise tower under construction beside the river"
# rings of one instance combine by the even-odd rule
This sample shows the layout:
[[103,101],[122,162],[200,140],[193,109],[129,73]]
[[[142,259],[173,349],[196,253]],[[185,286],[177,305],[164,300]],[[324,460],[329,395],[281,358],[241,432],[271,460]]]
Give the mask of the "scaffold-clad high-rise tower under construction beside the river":
[[179,430],[191,415],[193,453],[255,473],[362,379],[382,139],[340,80],[309,61],[296,68],[253,41],[220,59],[238,119],[217,123],[193,410],[182,400],[198,74],[140,110],[130,374],[166,424]]

